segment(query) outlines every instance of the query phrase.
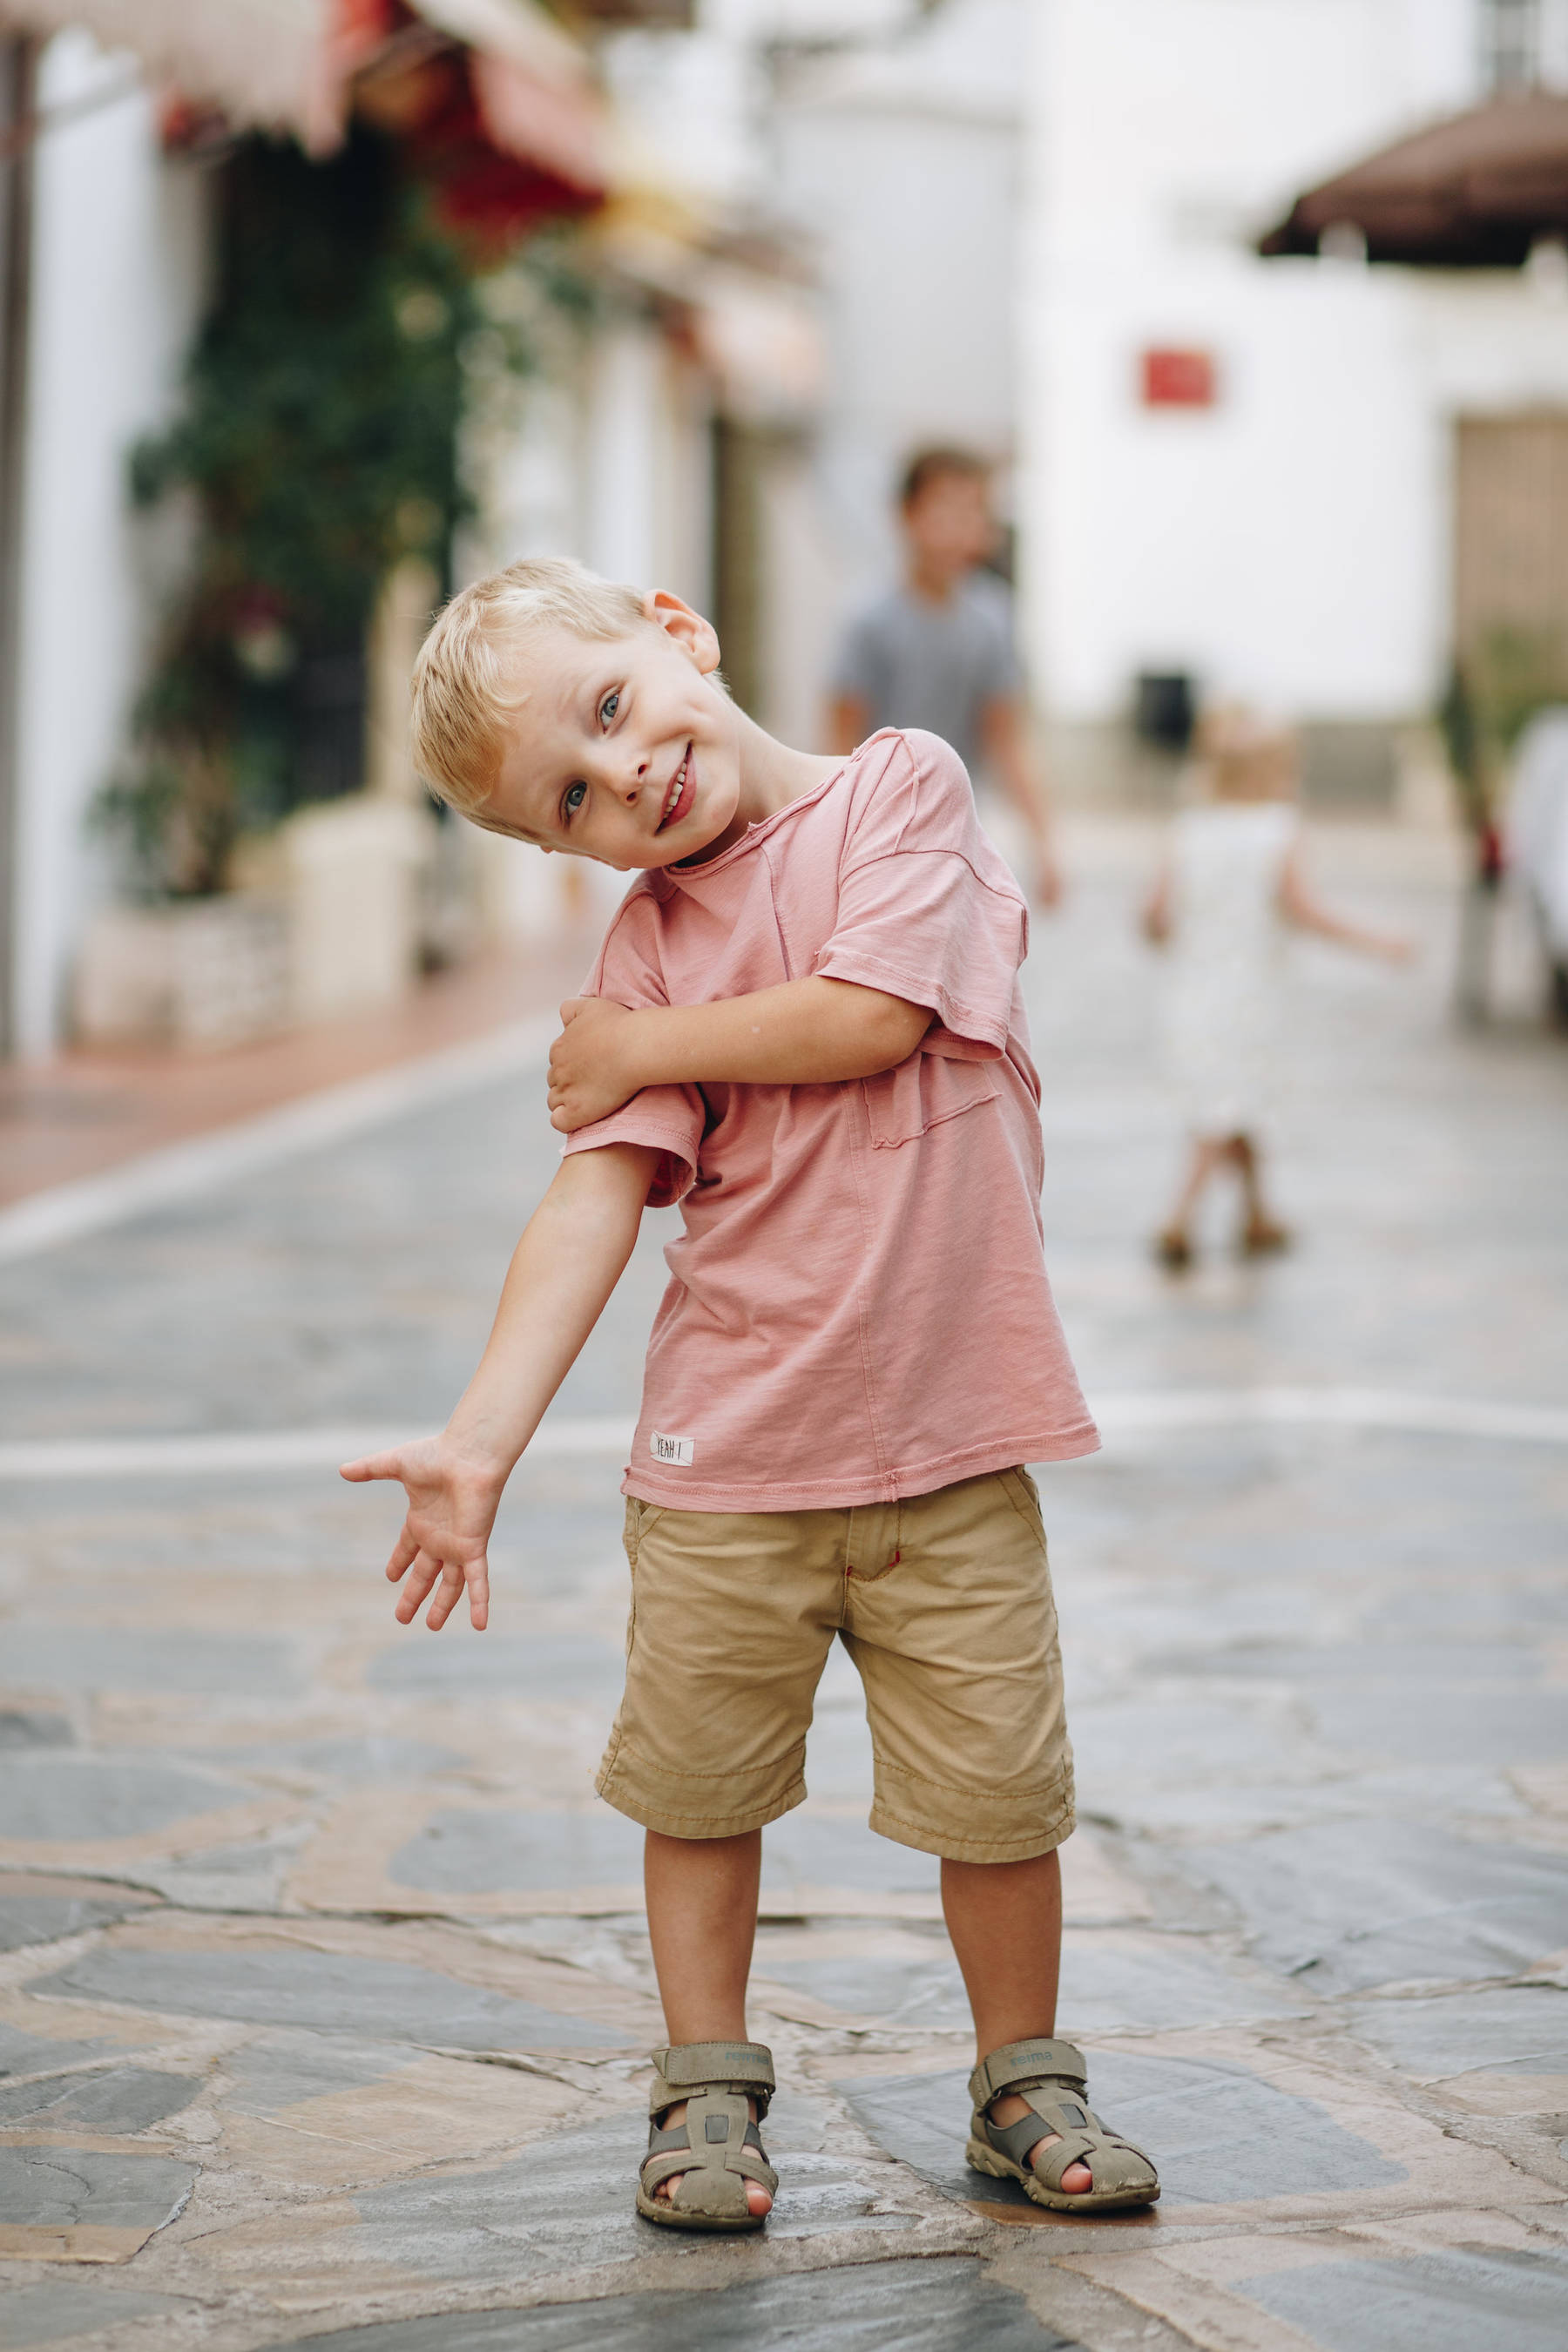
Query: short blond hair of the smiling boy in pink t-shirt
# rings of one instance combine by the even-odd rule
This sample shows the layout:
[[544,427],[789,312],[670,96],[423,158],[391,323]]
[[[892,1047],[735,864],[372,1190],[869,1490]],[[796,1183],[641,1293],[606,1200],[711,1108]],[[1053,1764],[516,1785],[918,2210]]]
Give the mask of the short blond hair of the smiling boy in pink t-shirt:
[[534,628],[630,637],[646,623],[642,593],[564,555],[529,555],[461,588],[435,616],[414,663],[414,767],[437,800],[484,823],[505,727],[524,694],[515,642]]

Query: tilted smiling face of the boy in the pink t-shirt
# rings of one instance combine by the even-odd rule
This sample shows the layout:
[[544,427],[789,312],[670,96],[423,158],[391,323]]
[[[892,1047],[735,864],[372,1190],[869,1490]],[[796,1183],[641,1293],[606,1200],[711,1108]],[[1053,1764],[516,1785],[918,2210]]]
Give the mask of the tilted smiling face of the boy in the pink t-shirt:
[[745,830],[736,706],[712,682],[719,640],[675,595],[646,612],[630,637],[529,633],[484,809],[541,849],[623,873],[717,854]]

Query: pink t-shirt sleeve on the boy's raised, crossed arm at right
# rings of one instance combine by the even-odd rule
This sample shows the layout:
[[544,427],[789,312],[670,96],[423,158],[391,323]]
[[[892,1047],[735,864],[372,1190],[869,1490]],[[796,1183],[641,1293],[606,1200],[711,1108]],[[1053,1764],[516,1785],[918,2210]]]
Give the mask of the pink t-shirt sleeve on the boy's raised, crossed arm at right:
[[1009,1040],[1030,915],[980,833],[964,762],[938,736],[891,736],[863,790],[816,971],[929,1004],[940,1025],[924,1051],[990,1061]]

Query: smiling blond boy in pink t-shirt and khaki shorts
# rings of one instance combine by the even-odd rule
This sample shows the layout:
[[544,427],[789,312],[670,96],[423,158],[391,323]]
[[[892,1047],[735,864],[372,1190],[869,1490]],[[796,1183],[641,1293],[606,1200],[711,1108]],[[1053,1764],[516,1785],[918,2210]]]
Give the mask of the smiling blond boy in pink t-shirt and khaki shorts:
[[632,1623],[599,1792],[646,1828],[670,2046],[637,2211],[748,2230],[778,2187],[748,2042],[762,1825],[804,1797],[835,1635],[865,1682],[872,1828],[943,1858],[980,2065],[969,2161],[1058,2211],[1154,2169],[1056,2042],[1072,1830],[1027,1461],[1098,1444],[1041,1261],[1027,915],[933,736],[766,736],[672,595],[522,562],[437,619],[423,774],[491,830],[639,880],[550,1056],[562,1169],[447,1430],[350,1463],[409,1496],[397,1618],[489,1613],[501,1489],[679,1202],[625,1472]]

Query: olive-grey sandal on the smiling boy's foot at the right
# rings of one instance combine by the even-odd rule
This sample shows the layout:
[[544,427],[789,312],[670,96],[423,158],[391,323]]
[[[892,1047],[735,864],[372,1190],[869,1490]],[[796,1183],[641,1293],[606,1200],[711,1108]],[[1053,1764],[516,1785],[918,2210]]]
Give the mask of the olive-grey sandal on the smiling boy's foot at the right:
[[[1072,2042],[1009,2042],[992,2051],[969,2077],[973,2122],[966,2157],[992,2180],[1018,2180],[1051,2213],[1117,2213],[1126,2206],[1154,2204],[1159,2173],[1143,2147],[1107,2131],[1086,2105],[1088,2067]],[[1030,2114],[1016,2124],[992,2124],[992,2100],[1016,2091]],[[1030,2150],[1060,2133],[1053,2147],[1030,2164]],[[1074,2197],[1063,2187],[1070,2164],[1086,2164],[1093,2187]]]

